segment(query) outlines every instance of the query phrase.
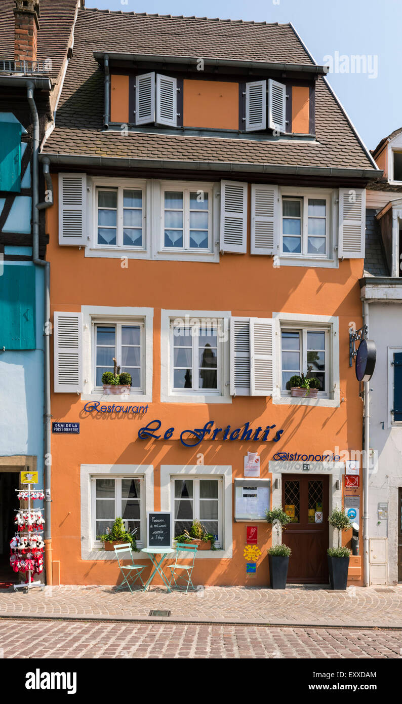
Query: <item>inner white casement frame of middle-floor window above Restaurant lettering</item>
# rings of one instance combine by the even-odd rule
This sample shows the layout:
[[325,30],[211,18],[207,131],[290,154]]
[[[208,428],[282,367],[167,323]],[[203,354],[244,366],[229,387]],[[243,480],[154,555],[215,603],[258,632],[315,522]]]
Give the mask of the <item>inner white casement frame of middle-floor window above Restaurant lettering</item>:
[[[103,325],[109,325],[115,327],[115,350],[116,350],[116,360],[119,366],[123,366],[121,363],[121,348],[122,348],[122,327],[124,325],[136,325],[141,328],[140,333],[140,358],[141,358],[141,372],[140,372],[140,386],[132,387],[130,389],[130,396],[132,394],[139,395],[144,394],[144,382],[145,382],[145,320],[144,318],[118,318],[116,320],[111,320],[110,318],[97,318],[96,315],[91,318],[91,350],[92,350],[92,382],[91,388],[94,394],[103,394],[103,386],[96,386],[96,327],[102,327]],[[113,363],[112,365],[113,366]]]

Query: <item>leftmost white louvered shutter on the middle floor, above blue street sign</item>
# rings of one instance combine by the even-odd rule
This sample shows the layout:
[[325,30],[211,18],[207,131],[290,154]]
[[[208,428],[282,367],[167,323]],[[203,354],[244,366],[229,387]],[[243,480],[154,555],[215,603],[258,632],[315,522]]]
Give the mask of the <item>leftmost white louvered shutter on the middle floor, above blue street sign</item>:
[[82,391],[82,313],[54,314],[54,391]]

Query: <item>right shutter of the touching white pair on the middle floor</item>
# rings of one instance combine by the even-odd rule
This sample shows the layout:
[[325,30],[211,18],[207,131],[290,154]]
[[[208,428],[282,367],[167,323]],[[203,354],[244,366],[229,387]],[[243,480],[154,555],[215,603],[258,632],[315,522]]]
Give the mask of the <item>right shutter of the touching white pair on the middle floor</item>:
[[272,396],[274,339],[272,318],[250,318],[251,396]]

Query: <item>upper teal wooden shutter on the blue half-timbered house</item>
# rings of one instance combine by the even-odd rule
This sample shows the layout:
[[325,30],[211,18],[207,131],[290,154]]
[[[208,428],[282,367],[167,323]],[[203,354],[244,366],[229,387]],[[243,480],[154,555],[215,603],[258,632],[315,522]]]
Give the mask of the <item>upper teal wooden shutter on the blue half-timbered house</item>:
[[21,125],[0,122],[0,191],[21,190]]

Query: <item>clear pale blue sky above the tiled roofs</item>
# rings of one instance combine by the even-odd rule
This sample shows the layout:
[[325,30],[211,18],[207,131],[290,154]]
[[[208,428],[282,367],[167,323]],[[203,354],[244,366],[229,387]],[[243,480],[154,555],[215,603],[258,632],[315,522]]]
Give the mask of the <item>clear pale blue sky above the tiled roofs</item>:
[[[368,73],[329,75],[369,149],[402,126],[401,0],[85,0],[85,5],[123,12],[291,22],[317,63],[323,63],[325,56],[334,57],[335,52],[377,57],[377,77],[370,78]],[[375,74],[375,63],[371,67]]]

